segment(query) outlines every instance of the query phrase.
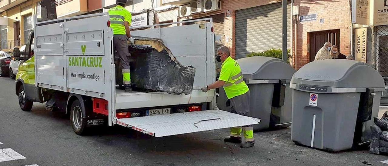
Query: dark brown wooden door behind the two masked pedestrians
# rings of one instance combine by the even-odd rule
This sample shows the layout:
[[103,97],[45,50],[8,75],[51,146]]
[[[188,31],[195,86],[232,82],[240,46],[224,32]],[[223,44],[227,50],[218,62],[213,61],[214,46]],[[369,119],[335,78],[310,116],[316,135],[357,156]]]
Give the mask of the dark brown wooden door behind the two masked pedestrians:
[[[310,33],[310,62],[314,61],[315,55],[326,41],[329,41],[332,45],[339,46],[340,29]],[[340,52],[340,47],[338,47],[338,51]]]

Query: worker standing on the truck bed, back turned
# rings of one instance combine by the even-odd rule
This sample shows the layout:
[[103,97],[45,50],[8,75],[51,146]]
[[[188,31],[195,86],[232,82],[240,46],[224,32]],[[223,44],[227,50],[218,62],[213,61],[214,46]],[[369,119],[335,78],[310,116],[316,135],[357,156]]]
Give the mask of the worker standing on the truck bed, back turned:
[[116,0],[116,7],[112,7],[108,12],[113,29],[113,50],[116,50],[120,57],[125,92],[130,92],[132,88],[127,37],[131,43],[134,43],[135,39],[132,38],[129,30],[132,15],[124,8],[125,5],[126,0]]

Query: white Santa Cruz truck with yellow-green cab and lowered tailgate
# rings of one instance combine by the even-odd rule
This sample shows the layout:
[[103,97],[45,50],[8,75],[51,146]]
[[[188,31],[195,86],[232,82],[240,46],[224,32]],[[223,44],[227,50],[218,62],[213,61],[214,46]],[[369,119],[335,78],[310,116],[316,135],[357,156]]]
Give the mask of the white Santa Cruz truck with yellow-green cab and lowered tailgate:
[[[204,21],[195,20],[195,21]],[[169,24],[182,24],[176,22]],[[258,124],[260,119],[217,109],[215,90],[200,87],[215,81],[212,22],[132,31],[159,38],[179,62],[194,66],[192,94],[130,92],[117,88],[113,31],[107,13],[37,22],[26,51],[14,50],[25,62],[16,76],[16,95],[23,111],[33,102],[70,114],[76,134],[118,124],[154,137]],[[149,27],[158,26],[152,25]],[[35,53],[31,43],[35,40]],[[31,58],[28,56],[35,54]]]

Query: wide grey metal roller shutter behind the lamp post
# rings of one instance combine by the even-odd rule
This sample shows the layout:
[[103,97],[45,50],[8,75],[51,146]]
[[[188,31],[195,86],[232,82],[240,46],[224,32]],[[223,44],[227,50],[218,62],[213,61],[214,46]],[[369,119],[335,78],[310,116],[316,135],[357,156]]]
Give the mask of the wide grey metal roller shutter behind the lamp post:
[[[287,45],[291,46],[291,5],[287,5]],[[282,3],[236,11],[236,59],[251,52],[282,48]]]

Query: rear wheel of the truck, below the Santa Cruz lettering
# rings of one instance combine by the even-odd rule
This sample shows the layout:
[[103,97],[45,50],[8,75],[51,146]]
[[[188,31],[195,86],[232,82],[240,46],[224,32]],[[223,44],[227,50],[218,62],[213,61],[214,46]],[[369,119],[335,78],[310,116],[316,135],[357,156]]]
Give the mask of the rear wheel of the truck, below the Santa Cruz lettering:
[[87,119],[82,116],[82,105],[79,100],[74,100],[70,108],[70,122],[73,131],[77,135],[85,135],[87,133]]

